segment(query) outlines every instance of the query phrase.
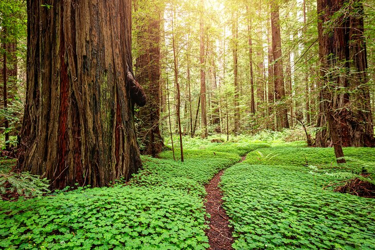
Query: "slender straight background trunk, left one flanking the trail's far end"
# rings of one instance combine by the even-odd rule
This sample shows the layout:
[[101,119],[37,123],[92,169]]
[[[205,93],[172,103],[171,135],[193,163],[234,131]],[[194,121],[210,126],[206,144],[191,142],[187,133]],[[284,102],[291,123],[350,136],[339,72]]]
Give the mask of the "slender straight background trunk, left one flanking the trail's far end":
[[237,13],[236,16],[233,15],[234,22],[232,24],[232,36],[233,36],[233,71],[234,71],[234,135],[236,136],[239,132],[239,88],[238,88],[238,64],[237,64],[237,36],[238,36],[238,27],[237,27]]

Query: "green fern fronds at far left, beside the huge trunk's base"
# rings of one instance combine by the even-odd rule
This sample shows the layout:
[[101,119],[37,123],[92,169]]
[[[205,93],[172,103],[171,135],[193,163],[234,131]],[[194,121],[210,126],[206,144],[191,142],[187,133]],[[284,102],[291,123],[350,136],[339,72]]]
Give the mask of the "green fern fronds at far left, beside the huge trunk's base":
[[27,198],[49,192],[49,181],[29,172],[15,173],[0,171],[0,194],[16,193]]

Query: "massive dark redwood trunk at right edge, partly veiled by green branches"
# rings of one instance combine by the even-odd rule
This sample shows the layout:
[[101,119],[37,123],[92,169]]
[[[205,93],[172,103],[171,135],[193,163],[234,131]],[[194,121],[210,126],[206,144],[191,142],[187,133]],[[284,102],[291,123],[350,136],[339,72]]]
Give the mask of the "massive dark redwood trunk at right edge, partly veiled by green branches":
[[[350,5],[342,0],[319,0],[317,11],[324,81],[318,118],[318,126],[323,129],[316,134],[315,144],[326,146],[329,136],[334,144],[332,133],[337,132],[342,146],[374,146],[363,5],[357,0]],[[331,115],[333,119],[329,119]]]

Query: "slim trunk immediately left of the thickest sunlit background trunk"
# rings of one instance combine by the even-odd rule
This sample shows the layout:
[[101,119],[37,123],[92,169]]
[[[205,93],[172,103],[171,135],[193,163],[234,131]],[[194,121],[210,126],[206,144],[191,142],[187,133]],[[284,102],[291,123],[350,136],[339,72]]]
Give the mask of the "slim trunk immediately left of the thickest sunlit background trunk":
[[268,32],[267,32],[267,42],[268,42],[268,113],[271,117],[270,126],[268,128],[275,129],[275,114],[274,114],[274,103],[275,103],[275,88],[274,88],[274,78],[273,78],[273,51],[272,51],[272,32],[270,26],[270,20],[268,20]]

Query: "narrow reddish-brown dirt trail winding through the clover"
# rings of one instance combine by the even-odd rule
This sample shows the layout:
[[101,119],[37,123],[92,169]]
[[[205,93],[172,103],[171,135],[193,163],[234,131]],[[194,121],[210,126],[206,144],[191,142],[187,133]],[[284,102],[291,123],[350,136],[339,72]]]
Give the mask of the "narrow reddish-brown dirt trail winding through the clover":
[[[240,162],[245,159],[246,156],[243,156]],[[209,238],[210,250],[233,249],[233,227],[229,227],[229,217],[221,206],[223,202],[222,191],[218,187],[223,172],[224,170],[218,172],[210,183],[205,185],[207,201],[204,203],[204,206],[207,213],[211,215],[210,228],[205,230]]]

